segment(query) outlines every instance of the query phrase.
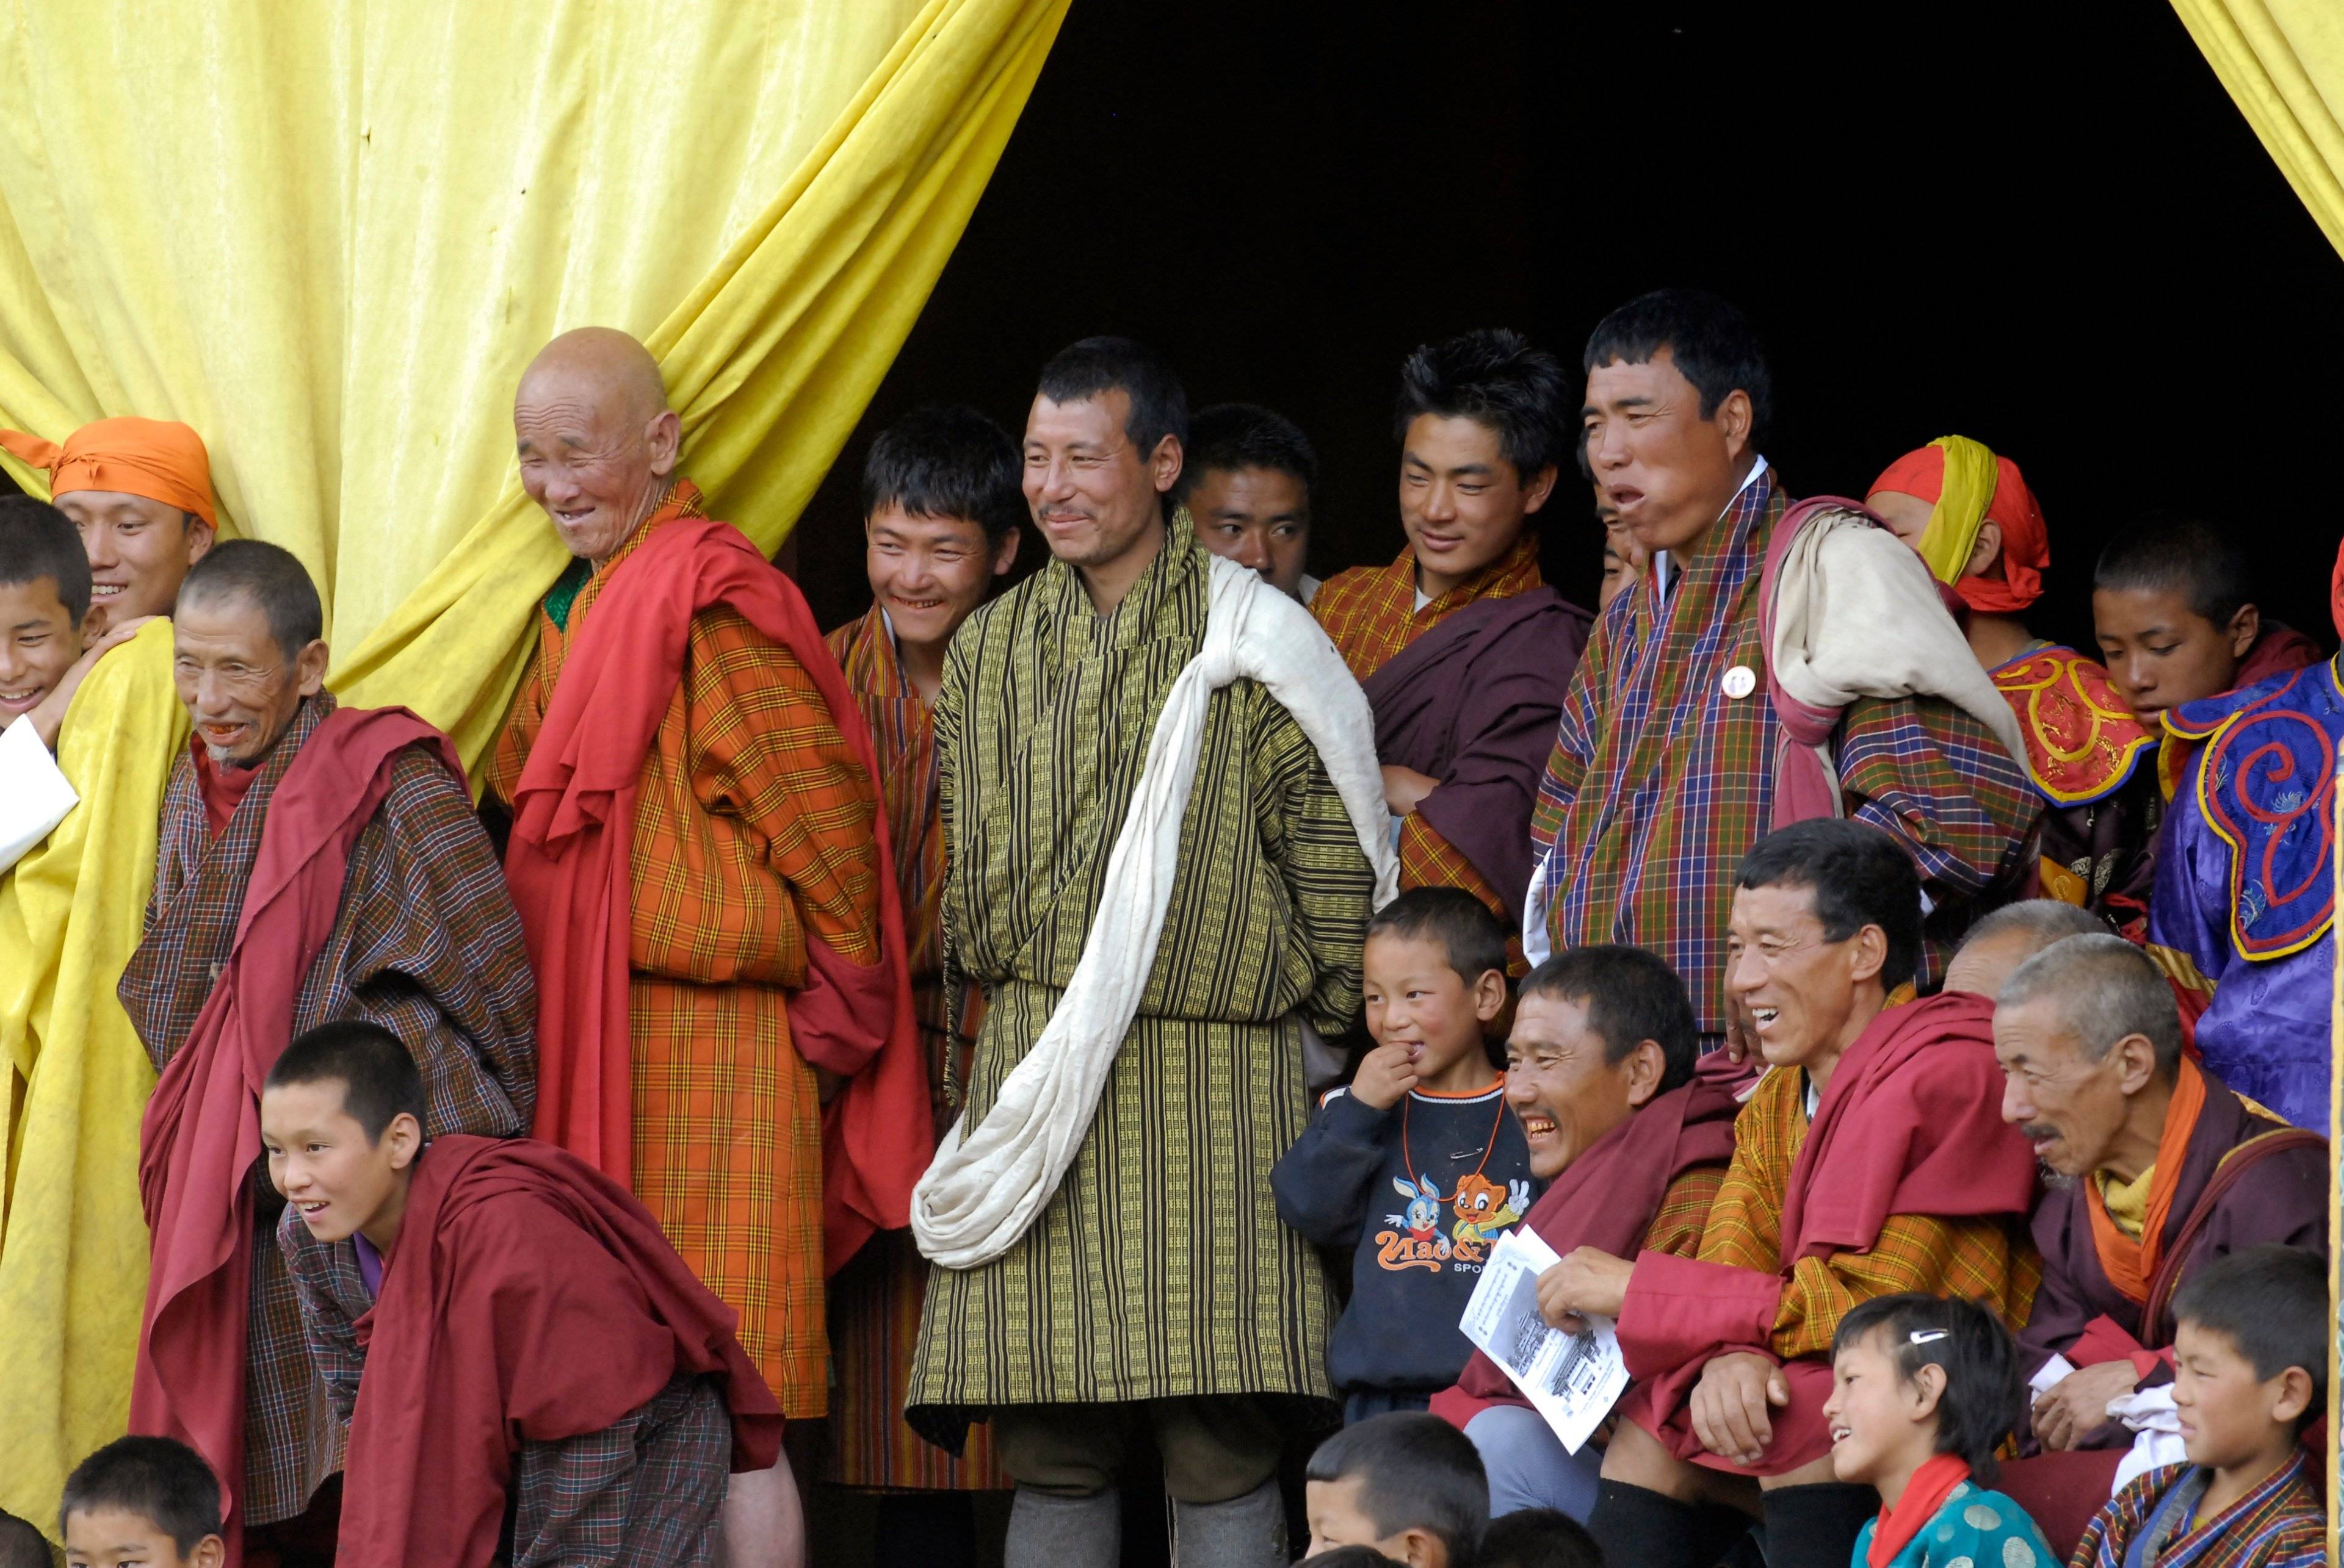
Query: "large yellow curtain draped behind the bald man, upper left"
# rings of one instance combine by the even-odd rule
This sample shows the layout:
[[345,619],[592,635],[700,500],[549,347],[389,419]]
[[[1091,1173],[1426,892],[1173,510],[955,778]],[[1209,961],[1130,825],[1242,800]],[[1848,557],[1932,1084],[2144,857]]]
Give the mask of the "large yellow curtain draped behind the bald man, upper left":
[[0,420],[195,424],[225,527],[316,577],[335,689],[476,762],[563,565],[513,478],[527,359],[570,326],[640,335],[684,471],[778,546],[1064,9],[26,2],[0,38]]

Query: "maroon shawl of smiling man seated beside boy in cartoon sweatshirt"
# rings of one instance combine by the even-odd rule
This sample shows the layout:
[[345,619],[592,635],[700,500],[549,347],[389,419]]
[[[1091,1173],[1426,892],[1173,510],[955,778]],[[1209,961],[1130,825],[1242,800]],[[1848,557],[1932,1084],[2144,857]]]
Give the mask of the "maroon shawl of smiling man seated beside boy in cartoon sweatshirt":
[[[1702,1064],[1709,1071],[1599,1137],[1531,1205],[1524,1221],[1556,1256],[1570,1256],[1578,1247],[1615,1259],[1636,1256],[1669,1186],[1688,1170],[1725,1165],[1735,1155],[1735,1113],[1742,1109],[1737,1090],[1746,1088],[1746,1073],[1728,1064],[1723,1050],[1709,1052]],[[1479,1350],[1453,1388],[1432,1395],[1432,1413],[1460,1432],[1493,1404],[1531,1402]]]

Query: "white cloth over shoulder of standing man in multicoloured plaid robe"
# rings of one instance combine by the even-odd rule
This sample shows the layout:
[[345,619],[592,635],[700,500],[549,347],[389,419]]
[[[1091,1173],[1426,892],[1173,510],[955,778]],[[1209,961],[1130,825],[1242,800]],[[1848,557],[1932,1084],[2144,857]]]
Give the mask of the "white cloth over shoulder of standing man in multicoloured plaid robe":
[[1856,511],[1819,513],[1784,553],[1767,661],[1784,691],[1817,708],[1943,698],[2028,762],[2018,715],[1946,614],[1927,563]]

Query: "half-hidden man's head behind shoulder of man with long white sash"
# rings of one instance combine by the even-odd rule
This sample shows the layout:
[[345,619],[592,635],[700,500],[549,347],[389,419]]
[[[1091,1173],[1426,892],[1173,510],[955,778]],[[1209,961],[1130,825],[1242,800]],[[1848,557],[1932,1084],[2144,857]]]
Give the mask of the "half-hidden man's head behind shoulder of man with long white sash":
[[1301,427],[1254,403],[1214,403],[1188,420],[1172,502],[1207,551],[1308,605],[1322,586],[1308,572],[1315,483],[1317,452]]

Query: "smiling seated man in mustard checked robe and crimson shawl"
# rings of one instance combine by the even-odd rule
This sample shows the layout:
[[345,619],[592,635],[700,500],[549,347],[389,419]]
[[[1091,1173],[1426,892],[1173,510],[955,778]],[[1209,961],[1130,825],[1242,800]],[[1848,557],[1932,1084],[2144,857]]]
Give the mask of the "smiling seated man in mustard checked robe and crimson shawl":
[[1760,839],[1725,984],[1767,1073],[1690,1252],[1573,1254],[1547,1313],[1617,1317],[1636,1385],[1589,1528],[1622,1568],[1706,1568],[1709,1507],[1765,1519],[1786,1563],[1849,1561],[1880,1502],[1831,1470],[1831,1343],[1856,1301],[1957,1294],[2025,1322],[2035,1153],[1995,1116],[1992,1003],[1906,1001],[1913,860],[1866,823]]

